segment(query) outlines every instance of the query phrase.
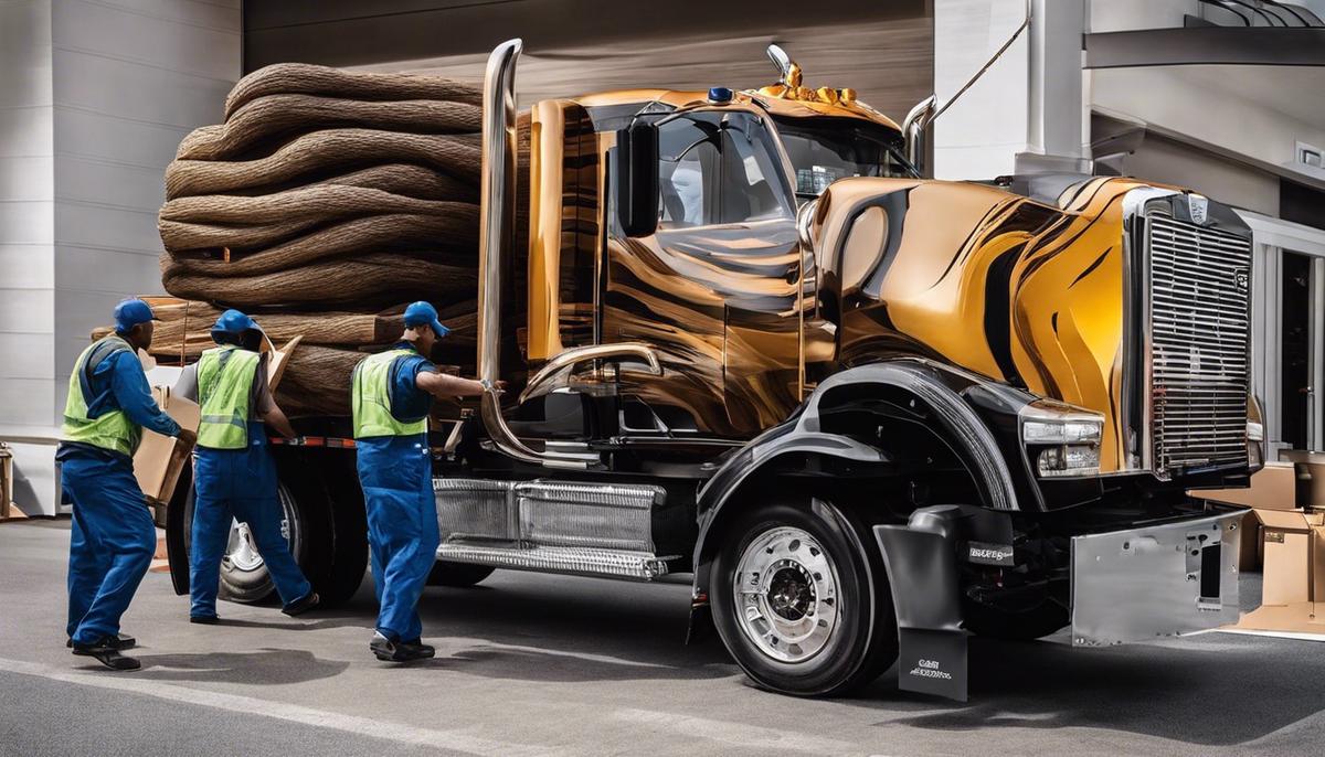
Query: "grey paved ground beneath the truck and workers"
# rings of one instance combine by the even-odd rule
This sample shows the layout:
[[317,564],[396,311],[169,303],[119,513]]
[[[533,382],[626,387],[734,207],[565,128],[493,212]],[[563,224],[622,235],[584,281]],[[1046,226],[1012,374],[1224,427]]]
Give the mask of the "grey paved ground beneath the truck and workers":
[[[367,651],[371,582],[292,619],[186,622],[150,573],[125,618],[144,668],[64,647],[68,521],[0,525],[0,754],[1318,754],[1325,647],[1234,634],[1105,650],[971,645],[971,701],[796,700],[682,645],[689,588],[498,572],[429,589],[431,664]],[[1255,577],[1248,576],[1255,582]],[[1247,589],[1256,590],[1251,585]],[[1257,593],[1259,596],[1259,593]]]

